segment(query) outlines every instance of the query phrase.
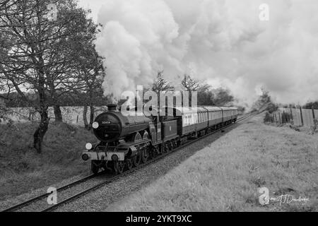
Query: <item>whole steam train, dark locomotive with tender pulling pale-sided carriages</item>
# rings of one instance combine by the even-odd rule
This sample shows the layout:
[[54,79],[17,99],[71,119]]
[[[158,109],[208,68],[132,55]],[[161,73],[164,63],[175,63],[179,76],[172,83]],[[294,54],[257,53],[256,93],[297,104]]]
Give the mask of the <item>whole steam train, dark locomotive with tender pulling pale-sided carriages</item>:
[[237,121],[235,107],[173,107],[170,111],[173,114],[164,117],[159,113],[146,117],[143,112],[124,116],[116,105],[108,105],[108,111],[98,115],[93,123],[100,143],[87,143],[82,159],[91,161],[94,174],[100,169],[122,174],[190,139]]

